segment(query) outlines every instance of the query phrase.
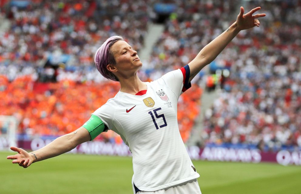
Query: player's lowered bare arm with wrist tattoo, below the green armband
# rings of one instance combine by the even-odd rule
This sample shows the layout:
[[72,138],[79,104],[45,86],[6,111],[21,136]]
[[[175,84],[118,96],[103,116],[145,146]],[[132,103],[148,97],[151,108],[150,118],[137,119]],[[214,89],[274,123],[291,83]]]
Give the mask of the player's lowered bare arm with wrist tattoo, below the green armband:
[[26,152],[24,149],[11,147],[12,151],[18,152],[16,155],[7,156],[7,159],[12,159],[12,163],[18,163],[19,166],[27,168],[33,162],[38,162],[48,158],[52,158],[69,152],[77,145],[89,141],[91,139],[90,133],[83,127],[80,127],[74,132],[63,135],[45,147],[34,152]]

